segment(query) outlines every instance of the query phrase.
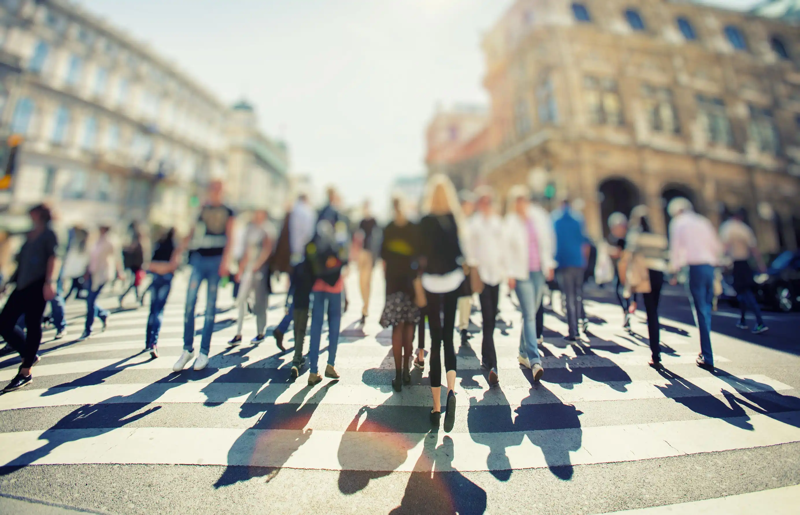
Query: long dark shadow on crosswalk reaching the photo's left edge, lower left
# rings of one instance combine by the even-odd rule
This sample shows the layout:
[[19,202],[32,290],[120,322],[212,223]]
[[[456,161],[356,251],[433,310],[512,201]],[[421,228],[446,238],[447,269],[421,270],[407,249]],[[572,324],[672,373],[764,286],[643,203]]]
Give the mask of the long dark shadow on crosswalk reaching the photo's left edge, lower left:
[[[167,381],[151,383],[130,395],[117,395],[97,404],[82,405],[74,409],[39,436],[39,440],[46,441],[44,445],[38,449],[22,453],[19,457],[6,463],[6,465],[0,466],[0,475],[5,476],[16,470],[23,469],[27,465],[46,457],[54,449],[58,449],[60,445],[109,433],[114,429],[124,427],[150,415],[150,413],[158,411],[161,406],[153,406],[141,413],[137,413],[140,409],[146,408],[147,405],[158,400],[158,397],[161,397],[168,390],[182,385],[184,382],[178,381],[177,374],[174,374]],[[62,429],[81,430],[65,431]]]

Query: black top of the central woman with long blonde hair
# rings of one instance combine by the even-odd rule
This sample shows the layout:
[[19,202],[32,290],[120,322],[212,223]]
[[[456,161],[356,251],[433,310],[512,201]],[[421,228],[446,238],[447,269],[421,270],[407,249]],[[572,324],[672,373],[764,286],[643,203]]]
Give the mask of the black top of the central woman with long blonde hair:
[[419,250],[426,273],[444,275],[462,266],[458,226],[452,214],[428,214],[419,221]]

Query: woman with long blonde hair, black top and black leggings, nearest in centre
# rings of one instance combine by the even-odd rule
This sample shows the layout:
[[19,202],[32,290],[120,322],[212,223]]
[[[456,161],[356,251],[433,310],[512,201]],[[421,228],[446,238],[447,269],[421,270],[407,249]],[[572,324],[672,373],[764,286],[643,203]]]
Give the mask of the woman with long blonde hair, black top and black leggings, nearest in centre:
[[[434,409],[430,421],[438,425],[442,414],[440,389],[442,387],[442,345],[445,349],[447,376],[447,405],[444,429],[450,432],[455,422],[456,361],[453,331],[458,297],[466,279],[458,237],[458,219],[461,218],[455,189],[450,179],[435,175],[428,184],[426,196],[428,214],[419,222],[420,265],[422,286],[427,297],[428,323],[430,324],[430,390]],[[442,315],[444,321],[442,322]]]

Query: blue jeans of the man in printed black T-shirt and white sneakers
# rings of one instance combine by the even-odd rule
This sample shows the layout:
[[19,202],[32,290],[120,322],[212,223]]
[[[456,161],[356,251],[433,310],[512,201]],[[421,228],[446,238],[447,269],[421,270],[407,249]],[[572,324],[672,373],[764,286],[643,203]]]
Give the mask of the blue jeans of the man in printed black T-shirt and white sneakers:
[[222,256],[194,254],[189,264],[192,265],[192,274],[189,279],[189,290],[186,293],[186,311],[183,313],[183,349],[194,352],[194,307],[198,303],[200,283],[205,280],[206,318],[200,337],[200,352],[207,356],[211,349],[211,334],[214,333],[214,316],[217,314],[217,287]]

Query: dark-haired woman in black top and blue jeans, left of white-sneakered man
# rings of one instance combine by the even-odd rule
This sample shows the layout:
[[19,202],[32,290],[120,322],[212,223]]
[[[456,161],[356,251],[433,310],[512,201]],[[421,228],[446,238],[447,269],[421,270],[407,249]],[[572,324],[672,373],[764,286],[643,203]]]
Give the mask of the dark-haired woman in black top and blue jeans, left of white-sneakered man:
[[[153,276],[150,282],[150,316],[147,317],[147,331],[145,333],[145,350],[150,351],[150,356],[158,357],[158,333],[161,331],[161,321],[164,316],[166,297],[170,295],[172,277],[174,277],[176,264],[172,261],[175,251],[175,230],[169,229],[158,239],[153,250],[153,259],[150,260],[148,272]],[[142,293],[142,298],[144,293]]]

